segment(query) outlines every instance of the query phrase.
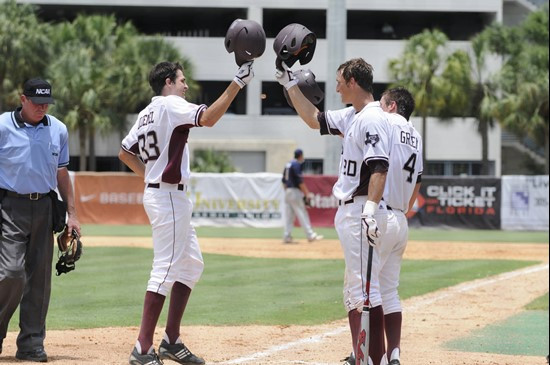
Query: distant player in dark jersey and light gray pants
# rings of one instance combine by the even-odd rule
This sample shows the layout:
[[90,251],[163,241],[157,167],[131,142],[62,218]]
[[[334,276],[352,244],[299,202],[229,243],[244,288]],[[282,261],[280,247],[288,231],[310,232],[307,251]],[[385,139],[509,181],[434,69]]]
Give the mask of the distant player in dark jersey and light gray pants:
[[323,236],[313,232],[311,222],[306,210],[306,200],[309,191],[302,177],[302,164],[304,152],[301,149],[294,151],[294,159],[285,165],[283,171],[283,188],[285,189],[285,233],[284,243],[292,243],[292,227],[294,218],[298,217],[300,225],[306,232],[309,242],[322,240]]

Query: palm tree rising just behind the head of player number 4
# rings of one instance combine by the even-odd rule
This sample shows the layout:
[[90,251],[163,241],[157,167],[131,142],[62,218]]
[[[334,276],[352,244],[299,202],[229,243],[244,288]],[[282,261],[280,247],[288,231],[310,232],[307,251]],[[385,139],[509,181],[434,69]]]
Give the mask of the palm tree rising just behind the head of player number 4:
[[447,36],[439,30],[424,30],[412,36],[405,44],[403,55],[399,59],[389,61],[389,70],[394,84],[406,87],[416,101],[416,114],[422,117],[422,139],[424,149],[422,158],[426,165],[427,151],[427,118],[437,115],[442,102],[438,90],[438,70],[443,61],[443,48]]

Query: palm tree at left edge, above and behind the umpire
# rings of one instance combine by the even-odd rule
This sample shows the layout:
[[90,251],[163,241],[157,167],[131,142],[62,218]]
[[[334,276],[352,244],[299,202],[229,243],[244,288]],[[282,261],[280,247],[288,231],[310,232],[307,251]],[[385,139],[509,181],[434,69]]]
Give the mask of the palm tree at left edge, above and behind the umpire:
[[19,105],[26,79],[44,77],[51,47],[48,25],[39,22],[35,10],[15,0],[0,3],[0,112]]

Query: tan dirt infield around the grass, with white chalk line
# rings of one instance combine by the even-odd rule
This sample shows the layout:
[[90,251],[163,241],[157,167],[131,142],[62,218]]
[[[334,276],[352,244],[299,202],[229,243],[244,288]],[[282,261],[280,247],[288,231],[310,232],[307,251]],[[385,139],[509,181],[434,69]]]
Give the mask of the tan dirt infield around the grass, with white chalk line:
[[[150,238],[87,237],[86,245],[151,247]],[[342,258],[334,240],[301,241],[201,238],[205,253],[253,257]],[[545,364],[541,357],[449,351],[443,344],[504,320],[548,291],[547,244],[411,241],[407,259],[514,259],[540,264],[404,301],[402,363],[405,365]],[[127,364],[138,328],[48,331],[46,350],[54,364]],[[155,341],[160,340],[157,329]],[[23,364],[13,357],[15,332],[8,333],[0,364]],[[320,326],[184,326],[186,344],[207,364],[339,364],[351,348],[347,320]],[[167,364],[171,362],[166,362]]]

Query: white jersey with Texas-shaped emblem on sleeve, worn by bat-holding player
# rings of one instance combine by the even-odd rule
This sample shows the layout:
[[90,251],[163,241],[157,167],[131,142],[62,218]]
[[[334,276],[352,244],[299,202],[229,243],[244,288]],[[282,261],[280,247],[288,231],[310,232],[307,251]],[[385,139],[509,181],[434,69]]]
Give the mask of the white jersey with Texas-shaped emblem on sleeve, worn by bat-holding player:
[[342,135],[338,181],[332,192],[339,200],[367,195],[369,161],[388,161],[390,126],[379,102],[367,104],[358,113],[353,107],[321,113],[321,134]]

